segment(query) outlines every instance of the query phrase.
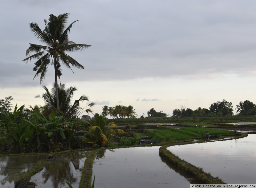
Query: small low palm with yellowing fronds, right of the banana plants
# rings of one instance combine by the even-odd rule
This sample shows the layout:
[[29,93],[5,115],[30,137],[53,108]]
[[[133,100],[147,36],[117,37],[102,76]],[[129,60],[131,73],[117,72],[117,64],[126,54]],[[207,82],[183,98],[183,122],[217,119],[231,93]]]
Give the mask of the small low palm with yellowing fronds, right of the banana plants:
[[116,131],[119,134],[125,133],[122,129],[118,129],[119,127],[114,122],[106,125],[104,116],[95,114],[94,118],[94,126],[89,129],[89,132],[84,134],[84,137],[95,142],[100,147],[105,142],[108,142],[116,134]]

